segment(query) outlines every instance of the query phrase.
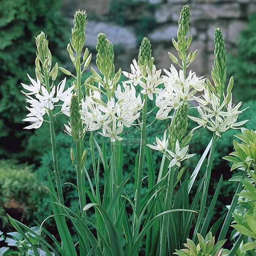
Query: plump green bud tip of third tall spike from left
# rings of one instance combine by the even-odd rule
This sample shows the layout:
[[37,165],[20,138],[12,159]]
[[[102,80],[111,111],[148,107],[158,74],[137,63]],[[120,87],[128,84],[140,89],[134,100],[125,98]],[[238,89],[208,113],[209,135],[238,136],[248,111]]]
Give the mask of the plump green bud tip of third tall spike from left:
[[97,37],[96,64],[104,76],[112,78],[114,76],[114,48],[113,44],[106,38],[106,35],[99,33]]

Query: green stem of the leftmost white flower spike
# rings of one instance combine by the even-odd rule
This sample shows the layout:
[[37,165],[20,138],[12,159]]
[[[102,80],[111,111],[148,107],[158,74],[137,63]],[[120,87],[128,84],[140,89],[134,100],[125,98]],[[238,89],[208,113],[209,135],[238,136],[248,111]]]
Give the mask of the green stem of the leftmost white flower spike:
[[[49,74],[47,69],[44,69],[44,81],[46,84],[46,89],[48,93],[51,92],[50,84],[49,84]],[[52,158],[53,158],[53,165],[54,165],[54,177],[57,187],[57,195],[58,199],[61,204],[64,204],[63,199],[63,191],[61,186],[61,180],[60,180],[60,170],[59,170],[59,163],[57,158],[57,147],[56,147],[56,141],[55,141],[55,131],[54,131],[54,118],[52,110],[49,109],[49,126],[50,126],[50,136],[51,136],[51,144],[52,144]]]

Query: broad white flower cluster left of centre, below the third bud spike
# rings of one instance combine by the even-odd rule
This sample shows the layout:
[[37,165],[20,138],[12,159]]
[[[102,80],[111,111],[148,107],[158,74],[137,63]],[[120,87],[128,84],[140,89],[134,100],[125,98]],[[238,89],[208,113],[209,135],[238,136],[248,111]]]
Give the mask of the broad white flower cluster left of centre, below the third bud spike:
[[82,101],[80,111],[81,119],[89,131],[101,130],[100,134],[112,141],[122,139],[118,135],[123,127],[131,127],[139,118],[139,111],[143,107],[142,99],[140,96],[136,97],[133,85],[123,83],[122,89],[118,84],[114,96],[105,103],[100,92],[90,91]]

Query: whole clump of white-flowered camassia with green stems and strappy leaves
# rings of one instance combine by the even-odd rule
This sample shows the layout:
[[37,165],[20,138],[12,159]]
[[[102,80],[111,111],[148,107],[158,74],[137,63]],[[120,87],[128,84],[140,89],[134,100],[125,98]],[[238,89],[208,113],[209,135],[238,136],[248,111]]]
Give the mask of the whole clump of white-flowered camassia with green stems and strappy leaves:
[[[93,68],[90,65],[92,54],[87,48],[84,49],[85,11],[75,13],[74,28],[67,46],[74,65],[73,73],[57,63],[52,67],[47,36],[42,32],[36,37],[35,79],[29,76],[31,84],[22,84],[29,104],[29,113],[24,121],[31,123],[27,129],[40,128],[43,122],[49,124],[56,185],[48,173],[46,190],[53,214],[38,224],[39,234],[9,216],[15,229],[31,244],[35,256],[40,256],[38,249],[44,250],[47,256],[52,253],[57,256],[137,256],[142,251],[147,256],[166,256],[175,251],[178,253],[186,239],[190,238],[188,241],[193,240],[193,244],[199,240],[196,251],[205,255],[221,255],[219,250],[230,222],[225,222],[222,228],[225,235],[214,247],[214,235],[224,217],[212,227],[210,221],[221,190],[222,177],[207,204],[215,146],[223,132],[239,128],[247,120],[237,122],[238,115],[243,111],[240,110],[242,103],[232,103],[233,78],[226,84],[226,49],[219,28],[215,30],[213,84],[188,71],[197,54],[197,50],[189,51],[192,42],[189,20],[190,7],[185,5],[178,21],[177,40],[172,40],[179,59],[169,52],[178,70],[171,65],[169,71],[163,69],[163,74],[155,66],[147,38],[142,40],[138,60],[133,60],[131,71],[117,70],[114,46],[103,33],[98,35],[96,44],[98,69]],[[84,80],[82,74],[88,67],[91,73]],[[59,70],[73,80],[71,84],[65,85],[66,78],[56,84]],[[122,73],[127,79],[121,83]],[[191,101],[198,102],[199,117],[188,114]],[[60,152],[57,151],[54,133],[58,114],[70,117],[69,123],[63,126],[67,136],[72,136],[75,142],[70,155],[76,184],[61,179],[62,170],[58,166]],[[156,137],[154,142],[149,130],[159,120],[169,120],[169,124],[163,137]],[[191,120],[198,126],[189,131],[188,122]],[[212,139],[190,173],[186,162],[194,154],[189,152],[189,144],[198,128],[209,129]],[[126,131],[131,129],[139,131],[140,147],[132,170],[128,172],[123,170],[123,151],[127,147],[123,139],[129,139]],[[85,139],[87,134],[90,137],[88,140]],[[153,165],[154,150],[161,153],[159,170]],[[202,170],[204,175],[191,199],[191,188],[195,186],[208,153],[207,169]],[[91,158],[92,166],[86,165],[88,158]],[[88,168],[92,168],[93,177],[89,175]],[[133,173],[134,181],[130,179]],[[100,179],[104,180],[103,187],[99,185]],[[142,193],[145,180],[147,191]],[[78,193],[75,212],[64,205],[64,182],[72,185]],[[128,182],[133,182],[134,196],[125,189]],[[88,221],[89,210],[95,211],[95,221]],[[54,218],[56,222],[59,239],[44,228],[49,218]],[[212,233],[209,233],[210,230]],[[77,238],[72,237],[73,232]],[[36,243],[32,242],[32,236]],[[45,236],[48,238],[45,239]],[[202,239],[205,236],[206,239]]]

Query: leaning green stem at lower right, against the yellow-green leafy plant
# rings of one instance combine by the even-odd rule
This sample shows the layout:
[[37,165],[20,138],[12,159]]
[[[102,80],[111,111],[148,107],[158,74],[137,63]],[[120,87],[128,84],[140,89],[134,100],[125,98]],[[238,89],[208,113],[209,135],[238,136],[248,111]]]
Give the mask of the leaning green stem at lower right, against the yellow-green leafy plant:
[[[245,169],[245,171],[242,174],[242,180],[245,178],[246,173],[247,173],[247,168]],[[221,240],[225,239],[225,237],[226,237],[226,234],[229,230],[229,225],[230,225],[231,220],[232,220],[232,213],[234,212],[234,210],[237,206],[237,201],[238,201],[238,198],[239,198],[239,196],[237,196],[237,194],[240,193],[241,191],[242,191],[242,181],[240,180],[240,182],[237,186],[235,196],[233,197],[233,200],[232,200],[231,205],[229,207],[228,214],[226,215],[225,221],[224,221],[223,226],[221,228],[221,233],[219,235],[218,241],[221,241]]]

